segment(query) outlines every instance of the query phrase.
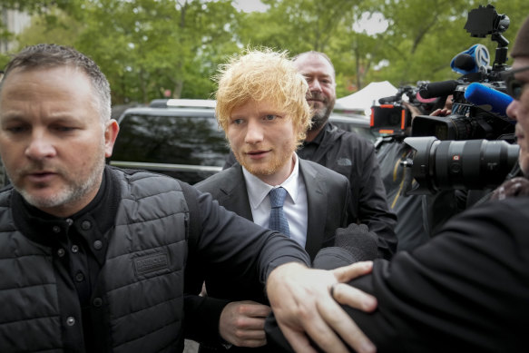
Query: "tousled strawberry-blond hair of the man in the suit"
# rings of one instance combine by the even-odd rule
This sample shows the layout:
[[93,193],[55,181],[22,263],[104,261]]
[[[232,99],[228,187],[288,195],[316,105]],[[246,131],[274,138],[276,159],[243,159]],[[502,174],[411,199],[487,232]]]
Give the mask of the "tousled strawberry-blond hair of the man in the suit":
[[297,144],[305,140],[311,123],[306,99],[309,84],[289,59],[288,52],[248,48],[231,57],[228,64],[220,65],[214,79],[219,83],[215,113],[224,132],[235,108],[250,100],[270,100],[289,113],[294,125],[299,125]]

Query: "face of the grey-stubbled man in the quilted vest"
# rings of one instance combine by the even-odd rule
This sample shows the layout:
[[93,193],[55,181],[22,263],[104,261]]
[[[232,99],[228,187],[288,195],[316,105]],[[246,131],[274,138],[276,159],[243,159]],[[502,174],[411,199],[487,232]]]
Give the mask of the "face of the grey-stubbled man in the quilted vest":
[[99,190],[118,127],[104,124],[86,76],[70,67],[15,69],[0,93],[0,154],[15,189],[58,217]]

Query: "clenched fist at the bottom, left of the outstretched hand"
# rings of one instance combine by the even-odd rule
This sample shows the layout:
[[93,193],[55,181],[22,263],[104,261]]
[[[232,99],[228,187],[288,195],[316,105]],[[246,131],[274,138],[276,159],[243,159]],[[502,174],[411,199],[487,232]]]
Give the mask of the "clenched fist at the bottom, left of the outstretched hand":
[[220,337],[233,346],[264,346],[264,322],[270,311],[269,306],[255,301],[230,302],[220,313]]

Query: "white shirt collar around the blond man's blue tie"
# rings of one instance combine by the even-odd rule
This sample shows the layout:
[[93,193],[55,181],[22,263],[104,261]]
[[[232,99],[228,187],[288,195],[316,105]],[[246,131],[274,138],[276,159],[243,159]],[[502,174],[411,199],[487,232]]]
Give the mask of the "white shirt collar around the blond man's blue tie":
[[281,182],[280,185],[269,185],[264,181],[261,181],[258,177],[248,172],[246,168],[242,167],[242,174],[244,175],[244,181],[246,181],[246,189],[248,191],[248,199],[250,200],[250,206],[252,209],[257,209],[261,202],[268,196],[269,191],[283,187],[289,194],[290,200],[296,203],[298,200],[298,184],[299,184],[299,158],[294,153],[294,169],[287,178],[286,181]]

